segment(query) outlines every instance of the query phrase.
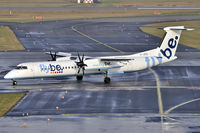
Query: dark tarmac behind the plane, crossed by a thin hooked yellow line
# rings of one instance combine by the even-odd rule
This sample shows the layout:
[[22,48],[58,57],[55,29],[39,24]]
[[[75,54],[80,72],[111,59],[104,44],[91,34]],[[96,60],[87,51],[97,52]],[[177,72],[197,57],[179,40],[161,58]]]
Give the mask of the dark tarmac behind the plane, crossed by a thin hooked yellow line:
[[[155,48],[160,38],[143,33],[139,27],[149,23],[200,20],[199,15],[65,20],[41,23],[0,23],[15,32],[26,51],[64,52],[140,52]],[[84,33],[83,36],[75,30]],[[97,43],[91,38],[101,43]],[[106,45],[111,46],[108,48]],[[178,51],[196,51],[180,46]]]

